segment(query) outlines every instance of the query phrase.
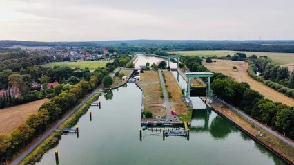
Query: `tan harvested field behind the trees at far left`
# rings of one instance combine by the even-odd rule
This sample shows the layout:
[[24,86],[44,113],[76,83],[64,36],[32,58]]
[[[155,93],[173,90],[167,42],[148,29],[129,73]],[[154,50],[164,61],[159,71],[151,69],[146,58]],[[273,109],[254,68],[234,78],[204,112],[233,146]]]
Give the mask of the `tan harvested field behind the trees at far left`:
[[37,113],[39,107],[49,99],[44,98],[27,104],[21,104],[6,109],[0,109],[0,133],[10,133],[26,121],[30,113]]

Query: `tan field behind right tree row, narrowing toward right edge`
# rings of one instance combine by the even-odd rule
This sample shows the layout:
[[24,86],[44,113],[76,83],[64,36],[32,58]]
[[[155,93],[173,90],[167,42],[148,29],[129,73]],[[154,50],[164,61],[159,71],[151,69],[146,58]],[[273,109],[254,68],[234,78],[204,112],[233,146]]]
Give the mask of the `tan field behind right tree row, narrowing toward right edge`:
[[[294,99],[289,98],[288,96],[285,96],[284,94],[281,94],[280,92],[251,78],[246,72],[248,68],[248,63],[246,62],[217,60],[215,63],[206,63],[205,61],[202,61],[202,65],[214,72],[221,72],[226,76],[231,76],[238,82],[248,83],[251,86],[251,89],[259,91],[265,98],[271,99],[274,102],[282,102],[290,106],[294,105]],[[236,66],[237,70],[233,69],[233,66]]]

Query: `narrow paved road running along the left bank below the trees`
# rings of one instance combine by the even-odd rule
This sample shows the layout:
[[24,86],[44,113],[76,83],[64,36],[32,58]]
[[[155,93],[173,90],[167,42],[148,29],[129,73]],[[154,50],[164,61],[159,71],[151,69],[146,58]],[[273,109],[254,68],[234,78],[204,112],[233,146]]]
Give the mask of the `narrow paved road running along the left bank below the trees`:
[[[119,71],[120,68],[115,69],[114,73]],[[111,74],[110,76],[113,78],[115,76],[115,74]],[[64,116],[57,124],[55,124],[55,126],[53,126],[49,131],[47,131],[45,133],[45,135],[43,135],[42,137],[40,137],[40,139],[35,142],[35,144],[32,144],[32,146],[30,146],[30,148],[28,148],[24,153],[22,153],[17,159],[14,160],[14,162],[12,162],[12,165],[17,165],[19,164],[19,162],[21,162],[21,160],[26,157],[33,149],[35,149],[35,147],[37,147],[39,144],[41,144],[41,142],[43,142],[43,140],[45,140],[48,135],[50,135],[53,131],[55,131],[55,129],[58,128],[58,126],[60,126],[66,119],[68,119],[70,117],[70,115],[72,115],[72,113],[75,113],[75,111],[77,111],[77,109],[79,109],[79,107],[81,107],[83,104],[85,104],[95,93],[97,93],[97,91],[99,91],[99,89],[102,89],[104,86],[101,84],[97,87],[97,89],[95,89],[95,91],[92,91],[92,94],[90,94],[87,98],[85,98],[77,107],[75,107],[74,109],[72,109],[72,111],[70,111],[70,113],[68,113],[68,115]]]

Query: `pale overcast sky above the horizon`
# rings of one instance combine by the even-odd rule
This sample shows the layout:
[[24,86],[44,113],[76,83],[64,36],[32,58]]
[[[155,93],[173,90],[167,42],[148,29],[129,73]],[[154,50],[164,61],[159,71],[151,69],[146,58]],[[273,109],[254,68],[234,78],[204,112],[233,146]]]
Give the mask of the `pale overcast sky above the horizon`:
[[293,40],[293,0],[0,0],[0,40]]

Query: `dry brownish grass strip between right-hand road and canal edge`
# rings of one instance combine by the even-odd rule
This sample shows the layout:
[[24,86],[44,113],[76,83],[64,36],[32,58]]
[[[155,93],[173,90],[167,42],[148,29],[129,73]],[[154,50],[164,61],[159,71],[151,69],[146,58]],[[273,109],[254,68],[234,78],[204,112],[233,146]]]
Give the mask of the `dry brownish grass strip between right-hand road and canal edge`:
[[[213,104],[213,107],[219,111],[219,104]],[[234,111],[231,111],[228,109],[228,107],[222,106],[222,110],[219,111],[223,115],[226,115],[227,118],[230,118],[233,120],[233,122],[237,123],[239,126],[242,126],[242,128],[246,129],[251,135],[257,135],[258,131],[262,131],[265,133],[263,137],[259,137],[259,140],[262,140],[265,144],[268,146],[271,146],[275,149],[278,153],[282,153],[284,157],[287,157],[292,162],[294,162],[294,148],[283,142],[282,140],[278,139],[271,133],[268,133],[264,129],[259,128],[256,126],[253,122],[247,120],[242,115],[239,115],[238,113],[235,113]],[[256,126],[256,130],[255,130]]]

